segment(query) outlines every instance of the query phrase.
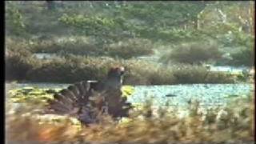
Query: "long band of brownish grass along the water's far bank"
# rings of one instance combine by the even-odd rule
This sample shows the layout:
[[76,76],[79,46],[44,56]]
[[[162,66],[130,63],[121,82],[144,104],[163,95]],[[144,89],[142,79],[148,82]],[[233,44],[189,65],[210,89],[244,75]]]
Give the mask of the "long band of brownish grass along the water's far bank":
[[[208,72],[202,66],[161,66],[142,60],[66,55],[65,57],[39,61],[38,59],[8,56],[7,78],[26,79],[31,82],[79,82],[102,79],[112,66],[125,66],[126,85],[168,85],[182,83],[231,83],[233,78],[222,73]],[[14,74],[12,74],[14,73]]]

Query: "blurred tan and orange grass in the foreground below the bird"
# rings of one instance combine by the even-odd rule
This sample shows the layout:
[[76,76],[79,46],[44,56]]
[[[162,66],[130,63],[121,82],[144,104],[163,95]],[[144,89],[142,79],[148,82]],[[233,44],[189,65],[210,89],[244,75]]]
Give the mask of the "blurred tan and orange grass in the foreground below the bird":
[[38,102],[26,103],[18,110],[14,110],[10,102],[7,102],[6,106],[7,141],[254,142],[253,94],[246,98],[235,98],[227,106],[206,110],[206,113],[201,113],[198,102],[194,101],[187,108],[189,114],[184,117],[178,116],[178,110],[167,109],[164,106],[158,109],[158,115],[151,114],[154,108],[148,101],[141,109],[133,110],[130,118],[114,122],[105,115],[102,116],[102,122],[91,126],[82,126],[75,119],[65,116],[38,114],[36,110],[43,108]]

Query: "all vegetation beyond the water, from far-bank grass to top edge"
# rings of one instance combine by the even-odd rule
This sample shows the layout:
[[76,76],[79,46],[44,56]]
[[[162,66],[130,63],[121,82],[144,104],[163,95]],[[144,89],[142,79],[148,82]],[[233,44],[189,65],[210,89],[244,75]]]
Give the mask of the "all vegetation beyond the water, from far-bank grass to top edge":
[[[170,66],[136,59],[154,57],[160,52],[159,62],[178,62],[178,67],[207,62],[252,66],[253,4],[6,2],[7,80],[75,82],[102,78],[106,68],[113,65],[111,62],[128,67],[128,83],[210,82],[194,76],[205,73],[201,68],[191,68],[190,74],[178,71],[182,78]],[[32,58],[35,53],[57,54],[61,58],[41,62]],[[230,59],[222,58],[228,53]],[[108,60],[102,62],[102,57]],[[224,75],[208,74],[207,78],[231,82],[232,77]]]

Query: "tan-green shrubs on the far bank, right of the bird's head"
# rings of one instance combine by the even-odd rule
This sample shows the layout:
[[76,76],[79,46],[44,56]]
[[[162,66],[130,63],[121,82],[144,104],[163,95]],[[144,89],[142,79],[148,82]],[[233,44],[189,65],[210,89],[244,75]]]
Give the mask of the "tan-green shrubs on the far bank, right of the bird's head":
[[170,85],[188,83],[234,83],[234,78],[221,72],[207,71],[203,66],[156,66],[143,61],[126,61],[128,85]]

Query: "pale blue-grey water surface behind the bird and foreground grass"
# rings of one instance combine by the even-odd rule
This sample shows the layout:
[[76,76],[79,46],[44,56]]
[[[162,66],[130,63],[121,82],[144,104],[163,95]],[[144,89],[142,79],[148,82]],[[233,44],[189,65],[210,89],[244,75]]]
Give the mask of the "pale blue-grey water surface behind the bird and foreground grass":
[[[70,84],[19,83],[15,87],[66,88]],[[7,84],[8,86],[8,84]],[[169,86],[134,86],[134,93],[128,102],[145,103],[152,98],[154,106],[184,106],[190,99],[197,99],[202,106],[224,105],[232,98],[238,98],[254,91],[253,84],[188,84]]]

